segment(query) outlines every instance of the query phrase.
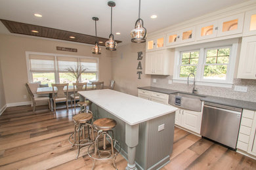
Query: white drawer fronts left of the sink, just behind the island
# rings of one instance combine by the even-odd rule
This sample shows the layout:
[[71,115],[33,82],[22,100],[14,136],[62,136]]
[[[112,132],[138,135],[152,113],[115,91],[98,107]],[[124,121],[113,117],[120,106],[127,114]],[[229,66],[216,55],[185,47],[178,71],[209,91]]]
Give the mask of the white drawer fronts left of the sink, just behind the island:
[[155,101],[158,103],[162,103],[165,105],[168,104],[168,100],[169,100],[169,95],[167,95],[167,94],[151,92],[148,90],[141,90],[141,89],[138,89],[138,97],[143,98],[143,99],[148,99],[151,101]]

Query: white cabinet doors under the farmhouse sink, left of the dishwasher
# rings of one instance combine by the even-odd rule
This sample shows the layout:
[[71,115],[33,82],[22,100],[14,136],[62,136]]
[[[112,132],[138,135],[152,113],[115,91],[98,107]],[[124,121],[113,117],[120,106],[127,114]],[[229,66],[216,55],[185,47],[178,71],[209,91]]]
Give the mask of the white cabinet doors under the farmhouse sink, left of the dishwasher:
[[202,112],[179,109],[175,114],[175,124],[190,131],[200,134],[202,122]]

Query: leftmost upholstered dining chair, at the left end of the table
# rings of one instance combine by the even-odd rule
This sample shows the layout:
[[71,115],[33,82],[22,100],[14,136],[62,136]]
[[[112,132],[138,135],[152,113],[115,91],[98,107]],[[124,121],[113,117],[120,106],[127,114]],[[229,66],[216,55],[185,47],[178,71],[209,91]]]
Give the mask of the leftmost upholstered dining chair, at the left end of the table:
[[37,95],[37,88],[39,87],[38,83],[26,83],[26,88],[28,90],[28,93],[30,94],[30,97],[32,99],[32,105],[33,105],[33,112],[35,112],[35,105],[39,101],[47,101],[49,105],[49,110],[51,110],[51,103],[50,103],[50,97],[49,95]]

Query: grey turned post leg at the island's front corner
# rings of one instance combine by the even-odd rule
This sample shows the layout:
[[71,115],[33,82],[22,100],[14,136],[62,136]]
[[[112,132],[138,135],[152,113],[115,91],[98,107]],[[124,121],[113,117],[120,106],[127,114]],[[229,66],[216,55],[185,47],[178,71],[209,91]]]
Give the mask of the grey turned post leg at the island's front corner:
[[139,124],[130,126],[125,124],[125,143],[127,144],[128,163],[126,170],[137,170],[135,165],[136,146],[139,143]]

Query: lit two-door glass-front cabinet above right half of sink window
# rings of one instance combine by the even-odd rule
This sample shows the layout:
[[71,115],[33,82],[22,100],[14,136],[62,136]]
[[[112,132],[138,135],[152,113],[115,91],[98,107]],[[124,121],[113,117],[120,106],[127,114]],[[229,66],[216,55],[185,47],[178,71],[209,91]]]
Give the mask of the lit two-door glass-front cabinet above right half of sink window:
[[242,33],[243,24],[244,13],[200,24],[196,27],[196,40],[200,41]]

